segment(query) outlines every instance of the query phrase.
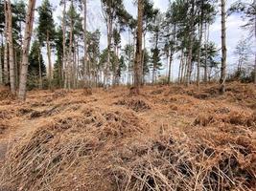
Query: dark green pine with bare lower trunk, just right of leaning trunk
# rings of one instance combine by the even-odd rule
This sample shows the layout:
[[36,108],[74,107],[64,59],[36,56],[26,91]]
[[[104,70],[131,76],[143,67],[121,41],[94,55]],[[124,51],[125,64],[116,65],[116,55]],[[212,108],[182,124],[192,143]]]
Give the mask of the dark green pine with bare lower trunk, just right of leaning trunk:
[[43,0],[42,5],[38,8],[38,13],[38,39],[41,45],[46,43],[49,66],[49,86],[50,89],[52,89],[53,69],[51,47],[55,39],[55,23],[53,18],[53,8],[49,0]]

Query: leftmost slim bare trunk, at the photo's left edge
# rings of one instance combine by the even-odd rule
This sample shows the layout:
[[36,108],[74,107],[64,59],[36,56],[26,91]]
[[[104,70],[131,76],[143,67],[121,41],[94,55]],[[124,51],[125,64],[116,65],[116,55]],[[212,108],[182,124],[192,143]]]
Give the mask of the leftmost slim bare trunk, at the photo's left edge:
[[5,1],[5,52],[4,52],[4,82],[9,84],[9,70],[8,70],[8,27],[9,27],[9,18],[8,18],[8,5]]

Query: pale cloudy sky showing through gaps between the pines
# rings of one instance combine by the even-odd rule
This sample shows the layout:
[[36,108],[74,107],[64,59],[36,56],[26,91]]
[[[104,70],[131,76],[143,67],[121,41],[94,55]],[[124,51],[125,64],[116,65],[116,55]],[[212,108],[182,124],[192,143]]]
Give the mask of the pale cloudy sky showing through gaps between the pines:
[[[37,0],[36,6],[41,4],[42,0]],[[236,0],[226,0],[226,7],[227,9],[232,5]],[[250,2],[251,0],[243,0],[244,2]],[[54,17],[55,21],[59,23],[59,16],[62,13],[62,8],[58,5],[59,0],[50,0],[51,4],[53,5]],[[124,0],[125,7],[127,11],[136,17],[137,8],[133,4],[134,0]],[[153,0],[154,7],[159,9],[160,11],[164,12],[168,9],[169,0]],[[101,0],[87,0],[87,29],[88,31],[95,31],[96,29],[100,29],[102,36],[101,36],[101,49],[105,49],[106,47],[106,30],[105,30],[105,21],[101,11]],[[220,6],[218,6],[220,10]],[[35,16],[36,17],[36,16]],[[227,17],[226,21],[226,38],[227,38],[227,64],[229,68],[234,65],[235,62],[235,47],[238,41],[247,36],[247,32],[244,29],[241,29],[241,26],[244,25],[244,20],[238,14],[232,14]],[[253,40],[253,39],[252,39]],[[221,48],[221,16],[220,12],[217,15],[217,19],[213,25],[210,26],[210,41],[216,43],[218,48]],[[254,39],[255,42],[255,39]],[[122,46],[128,43],[128,32],[122,33]],[[147,44],[147,47],[150,48],[151,45]],[[177,57],[177,55],[175,55]],[[46,59],[45,59],[46,60]],[[45,61],[47,63],[47,61]],[[163,60],[163,62],[166,62]],[[174,74],[177,74],[179,60],[175,58],[174,61]],[[163,72],[164,73],[164,72]]]

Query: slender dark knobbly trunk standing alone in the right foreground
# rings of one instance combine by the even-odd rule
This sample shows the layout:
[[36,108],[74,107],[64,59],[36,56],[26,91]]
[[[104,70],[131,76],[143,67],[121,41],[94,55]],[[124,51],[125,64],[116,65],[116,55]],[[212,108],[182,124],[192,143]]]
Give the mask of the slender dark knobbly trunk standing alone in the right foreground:
[[226,11],[225,11],[225,1],[221,0],[221,94],[225,92],[225,80],[226,80]]

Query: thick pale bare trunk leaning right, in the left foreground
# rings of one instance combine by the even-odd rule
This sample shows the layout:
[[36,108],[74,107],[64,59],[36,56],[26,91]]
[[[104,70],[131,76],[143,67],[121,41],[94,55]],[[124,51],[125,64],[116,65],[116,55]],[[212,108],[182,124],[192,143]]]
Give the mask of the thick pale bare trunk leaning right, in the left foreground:
[[20,99],[26,99],[26,85],[27,85],[27,74],[28,74],[28,59],[29,59],[29,50],[31,44],[31,36],[33,32],[34,24],[34,14],[35,14],[35,0],[29,0],[29,6],[26,16],[26,28],[25,28],[25,37],[23,40],[23,50],[22,50],[22,64],[19,80],[19,92],[18,97]]

